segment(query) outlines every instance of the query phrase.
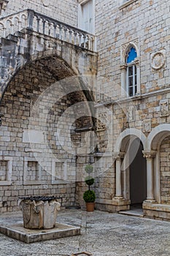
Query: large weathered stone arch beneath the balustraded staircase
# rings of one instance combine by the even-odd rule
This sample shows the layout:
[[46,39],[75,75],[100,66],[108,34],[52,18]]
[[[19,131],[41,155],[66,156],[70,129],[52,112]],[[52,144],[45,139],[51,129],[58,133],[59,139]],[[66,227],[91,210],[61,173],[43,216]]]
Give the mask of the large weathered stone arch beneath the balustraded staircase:
[[[79,90],[84,92],[85,97],[88,99],[88,101],[93,101],[93,94],[89,91],[88,86],[86,86],[84,83],[83,73],[81,75],[80,70],[77,67],[74,67],[74,64],[72,63],[72,58],[70,58],[68,54],[63,52],[67,52],[67,50],[65,49],[60,53],[58,52],[58,50],[56,50],[56,48],[51,48],[50,50],[44,50],[35,53],[31,56],[31,59],[24,60],[23,57],[20,56],[19,58],[21,59],[18,59],[15,63],[14,72],[9,76],[8,82],[3,86],[3,89],[1,90],[2,93],[0,102],[12,78],[15,78],[18,72],[20,72],[20,70],[22,70],[28,64],[36,63],[37,61],[41,62],[41,64],[45,67],[47,72],[51,72],[55,76],[56,80],[62,80],[63,78],[68,78],[69,76],[77,76],[77,78],[80,79]],[[59,75],[55,72],[55,67],[59,67]]]

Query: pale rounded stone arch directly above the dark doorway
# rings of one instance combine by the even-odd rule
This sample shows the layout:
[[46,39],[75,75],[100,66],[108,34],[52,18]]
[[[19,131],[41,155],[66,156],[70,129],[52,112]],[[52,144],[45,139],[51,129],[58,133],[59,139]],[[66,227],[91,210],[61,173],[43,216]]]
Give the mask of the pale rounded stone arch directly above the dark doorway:
[[126,144],[126,138],[128,138],[129,136],[131,136],[132,138],[139,138],[142,141],[143,146],[146,144],[146,136],[144,135],[144,133],[142,131],[140,131],[139,129],[136,128],[129,128],[129,129],[125,129],[117,138],[116,142],[115,142],[115,148],[114,151],[115,152],[120,152],[120,148],[122,146],[122,142],[124,140],[124,145],[123,148],[125,148],[125,144]]

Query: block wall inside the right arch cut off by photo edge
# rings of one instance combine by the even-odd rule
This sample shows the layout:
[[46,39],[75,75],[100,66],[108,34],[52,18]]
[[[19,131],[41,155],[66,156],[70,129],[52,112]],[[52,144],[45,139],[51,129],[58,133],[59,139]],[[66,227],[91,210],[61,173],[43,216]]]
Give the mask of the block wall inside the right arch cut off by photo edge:
[[170,203],[170,136],[165,138],[160,148],[161,203]]

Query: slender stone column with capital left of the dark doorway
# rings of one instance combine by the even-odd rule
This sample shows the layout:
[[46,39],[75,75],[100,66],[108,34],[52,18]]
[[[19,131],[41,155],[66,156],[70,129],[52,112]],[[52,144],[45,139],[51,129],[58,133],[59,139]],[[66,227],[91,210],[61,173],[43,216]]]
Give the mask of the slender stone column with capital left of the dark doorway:
[[124,153],[120,152],[116,156],[116,198],[123,198],[122,195],[122,177],[121,177],[121,159],[124,157]]

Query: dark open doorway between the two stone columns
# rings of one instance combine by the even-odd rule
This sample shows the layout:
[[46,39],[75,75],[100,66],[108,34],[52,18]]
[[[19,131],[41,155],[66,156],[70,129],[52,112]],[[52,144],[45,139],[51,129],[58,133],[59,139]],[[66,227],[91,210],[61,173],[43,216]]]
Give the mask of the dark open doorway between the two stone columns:
[[147,164],[146,159],[143,157],[142,150],[142,143],[139,138],[136,138],[133,143],[131,143],[129,156],[131,160],[129,173],[132,208],[142,208],[142,203],[147,197]]

